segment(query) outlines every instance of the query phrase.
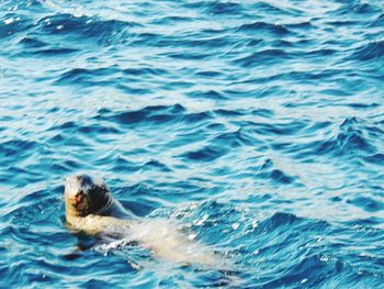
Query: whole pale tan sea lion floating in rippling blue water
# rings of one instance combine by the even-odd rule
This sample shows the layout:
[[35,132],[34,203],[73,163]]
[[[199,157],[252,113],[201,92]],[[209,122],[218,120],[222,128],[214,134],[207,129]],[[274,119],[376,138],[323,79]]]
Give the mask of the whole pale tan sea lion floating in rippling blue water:
[[143,219],[127,212],[103,181],[87,175],[69,177],[65,185],[69,227],[87,234],[128,238],[150,249],[158,258],[216,267],[217,256],[206,245],[181,233],[169,220]]

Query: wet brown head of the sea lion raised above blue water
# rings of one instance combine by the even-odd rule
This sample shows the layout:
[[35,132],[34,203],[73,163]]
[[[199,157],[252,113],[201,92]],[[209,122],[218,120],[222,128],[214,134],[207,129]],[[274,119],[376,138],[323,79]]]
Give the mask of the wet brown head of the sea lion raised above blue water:
[[66,179],[64,198],[67,216],[97,214],[110,201],[109,189],[102,180],[88,175],[76,175]]

